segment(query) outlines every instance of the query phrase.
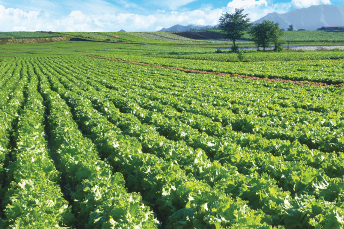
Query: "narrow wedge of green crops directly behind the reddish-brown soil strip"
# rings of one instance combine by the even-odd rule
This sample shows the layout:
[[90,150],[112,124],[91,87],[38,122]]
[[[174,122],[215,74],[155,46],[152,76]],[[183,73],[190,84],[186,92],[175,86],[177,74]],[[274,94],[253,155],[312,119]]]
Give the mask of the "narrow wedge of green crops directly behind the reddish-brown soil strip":
[[269,61],[269,62],[218,62],[193,59],[174,59],[149,56],[135,56],[124,54],[107,54],[125,61],[142,62],[146,64],[181,67],[187,69],[204,70],[267,78],[281,78],[290,80],[307,80],[328,84],[344,83],[343,60],[322,61]]

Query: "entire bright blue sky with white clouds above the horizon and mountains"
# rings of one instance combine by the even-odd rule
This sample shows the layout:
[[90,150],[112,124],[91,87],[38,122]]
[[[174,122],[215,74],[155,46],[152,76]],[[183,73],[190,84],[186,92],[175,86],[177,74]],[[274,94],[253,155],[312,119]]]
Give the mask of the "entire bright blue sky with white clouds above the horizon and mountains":
[[157,31],[175,24],[216,25],[244,8],[251,21],[344,0],[0,0],[0,31]]

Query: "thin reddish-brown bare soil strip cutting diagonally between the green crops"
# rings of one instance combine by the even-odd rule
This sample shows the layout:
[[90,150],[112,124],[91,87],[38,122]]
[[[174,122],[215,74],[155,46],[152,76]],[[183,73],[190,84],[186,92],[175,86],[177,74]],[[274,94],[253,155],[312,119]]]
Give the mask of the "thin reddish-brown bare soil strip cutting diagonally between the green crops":
[[153,65],[153,64],[146,64],[141,62],[134,62],[134,61],[123,61],[121,59],[111,58],[111,57],[104,57],[104,56],[95,56],[95,55],[86,55],[89,57],[99,58],[99,59],[107,59],[110,61],[116,61],[121,63],[128,63],[128,64],[136,64],[136,65],[142,65],[142,66],[149,66],[149,67],[159,67],[159,68],[167,68],[167,69],[175,69],[180,70],[186,73],[201,73],[201,74],[215,74],[215,75],[227,75],[232,77],[239,77],[239,78],[245,78],[245,79],[254,79],[254,80],[264,80],[264,81],[274,81],[274,82],[280,82],[280,83],[292,83],[297,85],[313,85],[318,87],[344,87],[344,83],[342,84],[326,84],[321,82],[314,82],[314,81],[306,81],[306,80],[290,80],[290,79],[280,79],[280,78],[261,78],[256,76],[247,76],[247,75],[239,75],[239,74],[228,74],[228,73],[222,73],[222,72],[207,72],[207,71],[201,71],[201,70],[194,70],[194,69],[187,69],[187,68],[179,68],[179,67],[169,67],[169,66],[161,66],[161,65]]

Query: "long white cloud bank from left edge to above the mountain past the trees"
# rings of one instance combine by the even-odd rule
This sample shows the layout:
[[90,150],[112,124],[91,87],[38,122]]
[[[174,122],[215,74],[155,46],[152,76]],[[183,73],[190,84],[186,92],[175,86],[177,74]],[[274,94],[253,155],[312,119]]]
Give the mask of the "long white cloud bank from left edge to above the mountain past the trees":
[[[103,0],[98,0],[103,1]],[[191,0],[190,0],[191,1]],[[244,7],[251,21],[265,16],[269,12],[284,13],[290,10],[291,4],[266,5],[267,0],[233,0],[227,7],[213,9],[204,5],[192,11],[154,11],[151,14],[112,12],[96,9],[73,10],[67,14],[56,15],[48,11],[24,11],[5,8],[0,5],[0,24],[2,31],[157,31],[175,24],[216,25],[224,12],[234,12],[235,8]],[[86,2],[90,2],[87,0]]]

